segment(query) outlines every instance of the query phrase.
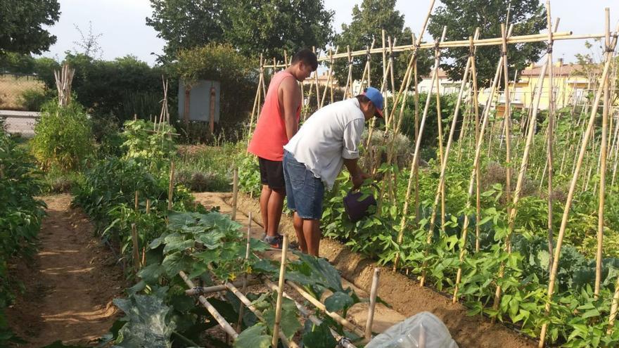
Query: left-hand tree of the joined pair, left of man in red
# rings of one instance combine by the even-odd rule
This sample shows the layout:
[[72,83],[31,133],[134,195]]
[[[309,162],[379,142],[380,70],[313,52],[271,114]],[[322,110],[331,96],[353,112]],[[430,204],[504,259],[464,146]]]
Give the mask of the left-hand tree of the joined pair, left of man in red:
[[153,15],[146,18],[166,41],[164,52],[174,58],[177,51],[221,42],[224,34],[224,1],[151,0]]

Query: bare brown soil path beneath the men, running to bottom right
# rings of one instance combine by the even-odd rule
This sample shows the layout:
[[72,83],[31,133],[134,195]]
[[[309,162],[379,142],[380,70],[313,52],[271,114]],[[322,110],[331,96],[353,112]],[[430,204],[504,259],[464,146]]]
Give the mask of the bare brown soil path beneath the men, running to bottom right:
[[[196,193],[196,199],[205,205],[222,205],[222,212],[231,210],[230,193]],[[214,204],[217,201],[217,204]],[[248,195],[239,193],[238,213],[253,212],[253,221],[260,223],[260,207],[257,200]],[[238,217],[237,217],[238,219]],[[245,217],[245,219],[247,219]],[[291,240],[296,240],[292,226],[292,219],[282,217],[280,230]],[[320,256],[327,257],[331,264],[342,274],[343,278],[356,285],[357,289],[369,289],[372,273],[377,265],[359,254],[351,252],[347,247],[336,240],[324,238],[321,240]],[[381,281],[378,287],[378,296],[384,299],[397,311],[394,314],[390,309],[377,309],[379,316],[378,327],[375,322],[374,331],[381,332],[395,321],[429,311],[440,318],[460,348],[533,348],[536,342],[518,335],[513,330],[501,324],[492,324],[490,320],[478,316],[467,316],[464,305],[452,304],[449,297],[439,294],[430,288],[421,288],[419,283],[391,269],[381,268]],[[357,291],[355,289],[355,291]],[[357,323],[364,324],[365,311],[359,309],[350,311],[360,315]],[[350,313],[349,312],[349,313]],[[353,318],[354,320],[354,318]],[[377,330],[378,329],[378,330]]]

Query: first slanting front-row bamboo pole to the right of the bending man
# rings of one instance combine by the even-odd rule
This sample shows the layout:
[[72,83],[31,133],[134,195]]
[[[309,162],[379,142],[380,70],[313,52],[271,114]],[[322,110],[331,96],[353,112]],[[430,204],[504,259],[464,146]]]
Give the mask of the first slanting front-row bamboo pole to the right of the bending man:
[[[445,39],[445,32],[446,32],[445,28],[443,28],[441,40]],[[434,51],[434,56],[435,56],[434,70],[432,72],[432,79],[430,82],[430,86],[434,85],[435,79],[438,77],[438,65],[440,63],[440,51],[438,49],[438,45],[436,46],[436,49]],[[404,86],[404,83],[402,83],[402,86]],[[402,89],[400,89],[400,91],[402,91]],[[407,214],[408,214],[408,208],[409,208],[409,197],[411,195],[412,176],[414,175],[415,167],[417,167],[417,164],[419,163],[419,150],[421,148],[421,137],[423,136],[423,127],[426,125],[426,117],[428,116],[428,109],[430,108],[430,97],[431,96],[432,96],[432,89],[428,90],[428,97],[426,98],[426,106],[425,108],[423,108],[423,116],[421,116],[421,124],[419,125],[419,134],[417,135],[415,139],[415,153],[413,156],[413,162],[411,162],[411,171],[409,174],[407,194],[406,194],[406,198],[404,199],[404,209],[402,211],[402,220],[400,221],[400,231],[397,235],[397,244],[399,245],[402,244],[402,240],[404,238],[404,228],[406,227],[406,220],[407,220]],[[394,103],[394,105],[395,104],[397,104],[397,102]],[[392,113],[393,113],[393,110],[392,110]],[[400,261],[400,253],[396,253],[395,260],[393,262],[393,271],[397,269],[397,264],[399,261]],[[421,284],[422,284],[421,286],[423,286],[423,283]]]

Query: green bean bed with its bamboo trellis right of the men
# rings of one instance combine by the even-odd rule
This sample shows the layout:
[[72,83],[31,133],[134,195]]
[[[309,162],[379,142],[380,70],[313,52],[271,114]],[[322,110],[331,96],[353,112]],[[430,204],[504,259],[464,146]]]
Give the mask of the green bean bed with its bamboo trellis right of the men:
[[[379,197],[376,214],[356,224],[348,221],[342,197],[351,184],[344,172],[326,202],[324,236],[418,279],[421,286],[451,294],[454,302],[470,308],[470,315],[488,316],[539,338],[540,347],[546,342],[563,347],[616,344],[618,119],[610,102],[614,100],[610,67],[615,64],[616,33],[611,35],[608,27],[608,11],[606,16],[606,34],[598,36],[556,32],[548,15],[552,34],[511,37],[511,28],[503,25],[503,37],[498,39],[478,39],[477,32],[468,41],[444,41],[443,37],[434,44],[421,44],[419,37],[410,46],[394,47],[385,46],[383,32],[382,48],[376,49],[373,42],[366,51],[329,51],[321,58],[327,66],[338,58],[347,59],[350,71],[353,59],[365,58],[362,86],[370,84],[371,55],[383,54],[382,84],[374,85],[395,93],[388,98],[388,117],[380,126],[383,141],[364,143],[369,157],[366,169],[381,179],[378,192],[366,189]],[[424,28],[425,24],[421,32]],[[591,94],[573,107],[540,110],[542,93],[554,94],[553,41],[595,37],[603,39],[606,51]],[[518,110],[510,105],[513,85],[508,79],[508,47],[535,40],[547,41],[547,63],[542,65],[532,104]],[[497,45],[503,52],[485,105],[477,105],[476,97],[481,92],[476,85],[475,51],[481,45]],[[464,58],[468,64],[454,113],[444,120],[435,72],[441,50],[459,46],[469,46],[471,53]],[[421,49],[435,51],[430,85],[437,89],[430,91],[425,105],[419,103],[417,94],[406,92],[416,84],[416,54]],[[390,78],[390,63],[398,51],[411,52],[400,89]],[[262,60],[260,66],[253,115],[260,115],[267,71],[287,66],[286,62],[269,65],[267,61]],[[332,76],[330,69],[329,82]],[[506,87],[501,114],[497,105],[502,80]],[[314,81],[309,84],[309,95],[321,96],[316,100],[319,108],[333,83],[321,89],[318,80]],[[352,96],[352,81],[349,74],[345,98]],[[433,131],[427,129],[431,94],[437,98],[439,121],[435,123],[437,138],[428,139],[424,132]],[[393,136],[402,129],[404,110],[411,103],[407,98],[415,99],[415,149],[408,169],[395,161],[397,137]],[[250,129],[253,123],[252,117]],[[366,139],[378,128],[372,122]],[[459,135],[454,136],[457,129]],[[424,141],[435,141],[438,150],[436,158],[420,168]],[[241,184],[253,193],[258,189],[250,177],[255,170],[241,170]]]

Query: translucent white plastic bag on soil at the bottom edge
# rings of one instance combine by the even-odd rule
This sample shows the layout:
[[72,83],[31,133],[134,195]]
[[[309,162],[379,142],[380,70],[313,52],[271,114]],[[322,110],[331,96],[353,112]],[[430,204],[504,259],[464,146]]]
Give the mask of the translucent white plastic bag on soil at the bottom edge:
[[422,311],[374,337],[365,348],[458,348],[439,318]]

